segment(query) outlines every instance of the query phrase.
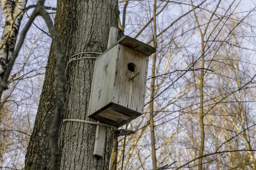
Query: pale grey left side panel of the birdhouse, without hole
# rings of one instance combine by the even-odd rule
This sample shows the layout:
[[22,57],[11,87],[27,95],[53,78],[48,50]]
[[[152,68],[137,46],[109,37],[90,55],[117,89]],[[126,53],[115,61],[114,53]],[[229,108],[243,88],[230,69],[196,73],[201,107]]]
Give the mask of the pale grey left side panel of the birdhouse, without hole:
[[90,94],[89,115],[102,109],[111,102],[118,45],[99,57],[95,62]]

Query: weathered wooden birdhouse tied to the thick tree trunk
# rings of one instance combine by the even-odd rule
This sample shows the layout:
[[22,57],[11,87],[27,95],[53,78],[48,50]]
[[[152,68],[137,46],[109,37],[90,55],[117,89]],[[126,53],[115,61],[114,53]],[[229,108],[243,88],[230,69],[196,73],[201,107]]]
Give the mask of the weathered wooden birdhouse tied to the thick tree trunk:
[[95,62],[89,116],[120,127],[143,114],[148,57],[155,48],[124,36]]

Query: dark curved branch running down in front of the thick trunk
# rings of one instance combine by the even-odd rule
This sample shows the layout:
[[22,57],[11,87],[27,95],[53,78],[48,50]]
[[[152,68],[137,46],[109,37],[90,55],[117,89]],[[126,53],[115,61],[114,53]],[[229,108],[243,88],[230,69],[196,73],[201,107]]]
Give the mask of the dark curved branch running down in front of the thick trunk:
[[[44,0],[42,0],[44,1]],[[38,2],[39,3],[39,2]],[[57,31],[55,30],[52,20],[45,10],[43,4],[38,7],[40,14],[44,18],[48,28],[49,33],[52,37],[52,42],[54,45],[54,53],[56,56],[56,68],[55,68],[55,77],[58,82],[58,96],[57,96],[57,103],[56,108],[54,110],[54,116],[52,120],[51,129],[49,131],[49,147],[51,149],[51,164],[50,170],[58,169],[58,133],[59,127],[61,125],[61,116],[63,113],[64,102],[65,102],[65,65],[64,65],[64,54],[61,48],[61,42],[58,38]]]

